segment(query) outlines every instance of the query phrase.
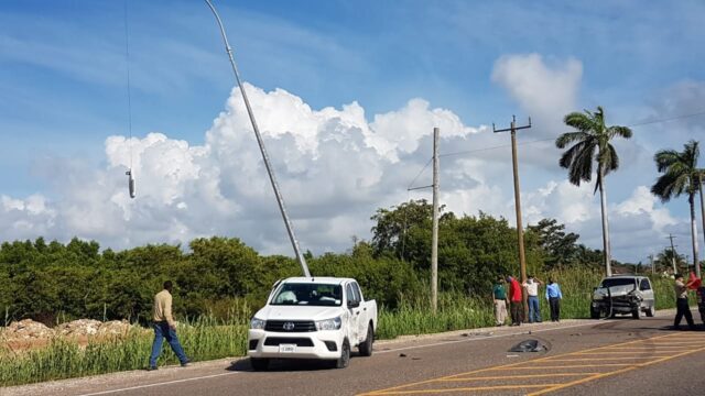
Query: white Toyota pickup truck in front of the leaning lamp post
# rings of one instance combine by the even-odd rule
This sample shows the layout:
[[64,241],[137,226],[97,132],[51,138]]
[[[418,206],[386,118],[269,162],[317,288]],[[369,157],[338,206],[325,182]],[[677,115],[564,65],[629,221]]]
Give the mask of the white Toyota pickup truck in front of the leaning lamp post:
[[250,321],[248,356],[257,371],[267,370],[270,359],[329,360],[344,369],[351,348],[372,354],[376,330],[377,302],[365,300],[355,279],[286,278]]

